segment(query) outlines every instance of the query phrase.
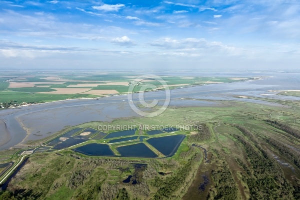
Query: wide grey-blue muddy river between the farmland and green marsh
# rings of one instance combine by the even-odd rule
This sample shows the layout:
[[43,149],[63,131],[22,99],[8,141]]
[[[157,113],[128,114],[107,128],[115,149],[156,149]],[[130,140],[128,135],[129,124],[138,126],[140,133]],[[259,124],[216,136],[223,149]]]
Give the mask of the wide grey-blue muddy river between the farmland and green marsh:
[[[283,106],[267,101],[237,98],[235,96],[300,100],[298,97],[274,95],[274,92],[268,92],[268,90],[300,90],[300,73],[193,73],[191,75],[190,72],[186,72],[186,74],[168,73],[163,75],[267,77],[263,80],[174,89],[171,90],[170,106],[219,106],[218,101],[220,100]],[[261,94],[270,95],[262,96]],[[132,97],[133,102],[137,102],[139,99],[138,94],[133,94]],[[165,91],[145,93],[145,100],[151,101],[153,99],[159,100],[159,104],[161,104],[165,99]],[[28,140],[42,139],[63,129],[65,126],[74,126],[90,121],[110,122],[125,117],[140,117],[130,108],[127,95],[109,96],[98,100],[64,100],[0,110],[0,150],[18,147],[17,144],[24,144]]]

